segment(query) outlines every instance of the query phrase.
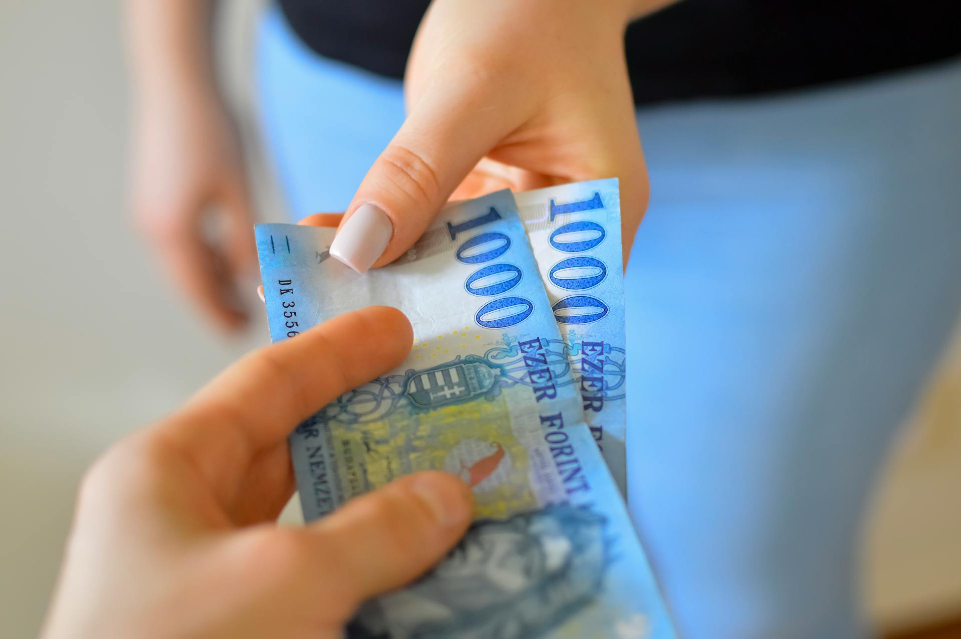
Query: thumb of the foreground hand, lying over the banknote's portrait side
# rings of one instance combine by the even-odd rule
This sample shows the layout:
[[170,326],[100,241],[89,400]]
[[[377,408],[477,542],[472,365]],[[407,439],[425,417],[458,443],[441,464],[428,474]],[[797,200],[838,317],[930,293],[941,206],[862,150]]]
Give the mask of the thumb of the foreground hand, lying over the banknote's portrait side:
[[396,479],[308,527],[320,553],[314,570],[335,588],[344,619],[436,563],[464,533],[473,503],[466,483],[429,471]]

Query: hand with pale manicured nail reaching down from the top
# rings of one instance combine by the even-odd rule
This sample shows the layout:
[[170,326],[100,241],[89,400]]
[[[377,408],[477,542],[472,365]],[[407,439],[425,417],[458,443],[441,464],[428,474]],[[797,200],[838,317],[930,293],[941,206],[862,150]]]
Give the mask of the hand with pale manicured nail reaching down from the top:
[[331,254],[359,272],[382,266],[452,194],[618,177],[627,264],[648,180],[624,29],[635,5],[664,4],[433,2],[407,63],[407,120],[360,184]]

